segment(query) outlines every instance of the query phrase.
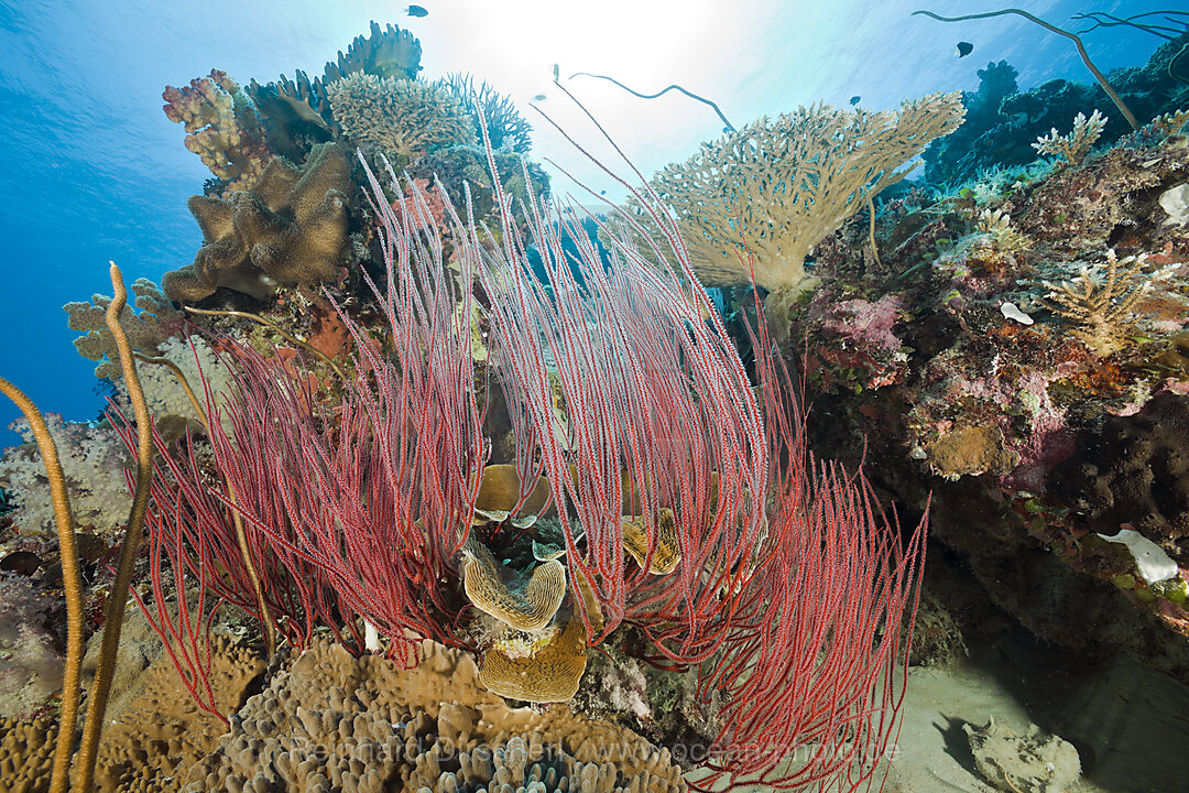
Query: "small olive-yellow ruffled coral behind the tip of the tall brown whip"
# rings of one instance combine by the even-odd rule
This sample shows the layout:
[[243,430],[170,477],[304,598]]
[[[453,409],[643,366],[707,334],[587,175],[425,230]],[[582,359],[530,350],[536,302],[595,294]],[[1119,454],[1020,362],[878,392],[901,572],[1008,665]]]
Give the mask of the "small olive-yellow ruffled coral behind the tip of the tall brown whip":
[[[132,284],[137,296],[138,314],[131,306],[120,313],[120,326],[128,336],[128,344],[134,352],[156,354],[157,347],[171,335],[171,325],[181,320],[181,311],[169,303],[169,298],[147,278],[138,278]],[[70,319],[67,325],[71,331],[82,331],[84,335],[75,339],[78,354],[88,360],[97,361],[95,377],[117,379],[121,377],[120,358],[115,350],[115,340],[107,329],[105,314],[112,302],[106,295],[93,295],[90,302],[73,302],[62,307]]]

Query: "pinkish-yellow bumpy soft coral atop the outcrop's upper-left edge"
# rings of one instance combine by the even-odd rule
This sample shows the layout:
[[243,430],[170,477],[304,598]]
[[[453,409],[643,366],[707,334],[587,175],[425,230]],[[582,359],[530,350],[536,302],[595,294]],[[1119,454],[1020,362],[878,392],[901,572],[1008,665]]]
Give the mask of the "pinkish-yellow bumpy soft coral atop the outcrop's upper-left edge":
[[250,190],[259,182],[272,149],[252,100],[226,71],[212,69],[182,88],[166,86],[161,97],[169,120],[185,126],[185,147],[228,190]]

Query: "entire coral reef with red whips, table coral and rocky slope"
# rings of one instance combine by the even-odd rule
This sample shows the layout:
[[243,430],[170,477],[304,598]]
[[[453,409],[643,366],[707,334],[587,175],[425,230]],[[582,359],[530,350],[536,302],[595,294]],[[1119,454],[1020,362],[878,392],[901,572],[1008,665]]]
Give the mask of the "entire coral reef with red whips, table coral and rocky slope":
[[[202,247],[67,306],[111,409],[25,404],[0,461],[6,788],[863,789],[914,625],[914,662],[965,648],[930,515],[988,609],[1074,647],[1146,612],[1124,649],[1189,676],[1178,81],[1131,75],[1120,137],[990,63],[583,218],[508,97],[420,58],[372,24],[313,81],[165,89]],[[1000,789],[1078,776],[965,732]]]

